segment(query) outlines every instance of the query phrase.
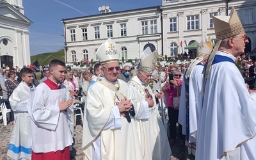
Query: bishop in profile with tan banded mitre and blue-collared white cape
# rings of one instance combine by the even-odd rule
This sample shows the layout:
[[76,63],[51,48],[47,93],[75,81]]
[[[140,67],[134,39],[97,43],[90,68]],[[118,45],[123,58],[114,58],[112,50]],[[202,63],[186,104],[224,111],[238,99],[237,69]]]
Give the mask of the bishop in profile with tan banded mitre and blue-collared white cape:
[[212,20],[217,42],[204,70],[196,159],[256,159],[256,91],[235,64],[248,36],[234,7]]

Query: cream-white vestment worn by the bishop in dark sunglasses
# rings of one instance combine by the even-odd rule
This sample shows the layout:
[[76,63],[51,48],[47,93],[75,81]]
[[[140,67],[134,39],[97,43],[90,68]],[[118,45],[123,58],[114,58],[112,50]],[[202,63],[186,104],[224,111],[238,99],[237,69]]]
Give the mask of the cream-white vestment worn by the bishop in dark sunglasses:
[[[127,83],[117,81],[116,90],[131,99]],[[101,84],[99,79],[88,89],[84,106],[84,159],[143,159],[135,122],[132,119],[129,123],[120,115],[119,102],[116,92]]]

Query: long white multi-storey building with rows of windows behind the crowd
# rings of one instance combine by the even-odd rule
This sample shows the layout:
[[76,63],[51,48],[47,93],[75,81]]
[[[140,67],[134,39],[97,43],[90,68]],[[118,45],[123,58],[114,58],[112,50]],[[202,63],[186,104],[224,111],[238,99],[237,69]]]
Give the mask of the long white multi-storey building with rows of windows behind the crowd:
[[226,15],[230,6],[236,8],[250,38],[246,52],[252,51],[256,47],[252,43],[256,40],[256,1],[225,2],[163,0],[162,6],[63,19],[66,61],[97,60],[95,52],[108,38],[116,42],[124,60],[140,58],[148,46],[163,56],[177,56],[188,52],[185,48],[195,41],[211,40],[214,43],[212,15]]

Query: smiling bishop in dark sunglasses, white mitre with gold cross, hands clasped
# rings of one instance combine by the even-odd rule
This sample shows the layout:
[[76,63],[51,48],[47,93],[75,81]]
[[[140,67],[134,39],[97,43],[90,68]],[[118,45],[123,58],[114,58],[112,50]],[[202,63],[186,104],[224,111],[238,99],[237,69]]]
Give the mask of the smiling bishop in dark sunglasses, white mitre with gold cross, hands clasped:
[[118,79],[120,53],[110,38],[97,57],[102,75],[90,86],[84,106],[84,159],[143,159],[136,132],[131,92]]

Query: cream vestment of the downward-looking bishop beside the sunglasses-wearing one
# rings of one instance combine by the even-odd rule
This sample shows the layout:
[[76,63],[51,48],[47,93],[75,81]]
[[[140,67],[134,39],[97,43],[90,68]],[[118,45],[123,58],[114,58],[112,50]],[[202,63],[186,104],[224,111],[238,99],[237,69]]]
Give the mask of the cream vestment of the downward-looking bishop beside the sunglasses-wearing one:
[[[136,125],[144,159],[169,160],[172,154],[167,133],[157,109],[154,93],[148,84],[142,84],[137,76],[128,83],[132,92],[132,103],[136,111]],[[154,106],[148,108],[145,100],[147,88],[154,100]]]

